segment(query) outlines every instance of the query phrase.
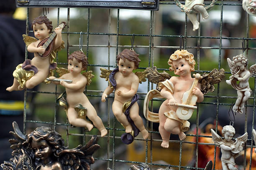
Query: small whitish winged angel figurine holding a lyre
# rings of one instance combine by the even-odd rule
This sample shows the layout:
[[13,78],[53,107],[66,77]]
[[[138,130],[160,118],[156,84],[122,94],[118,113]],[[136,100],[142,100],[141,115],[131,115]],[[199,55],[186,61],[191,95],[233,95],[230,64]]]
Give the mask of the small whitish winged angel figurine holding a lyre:
[[247,132],[244,133],[239,138],[236,138],[236,141],[231,140],[236,133],[236,130],[231,125],[226,125],[223,127],[222,134],[224,135],[224,140],[213,130],[212,140],[215,145],[220,147],[221,155],[221,164],[223,170],[238,170],[235,166],[235,158],[238,157],[239,152],[243,150],[243,146],[246,144],[248,139]]

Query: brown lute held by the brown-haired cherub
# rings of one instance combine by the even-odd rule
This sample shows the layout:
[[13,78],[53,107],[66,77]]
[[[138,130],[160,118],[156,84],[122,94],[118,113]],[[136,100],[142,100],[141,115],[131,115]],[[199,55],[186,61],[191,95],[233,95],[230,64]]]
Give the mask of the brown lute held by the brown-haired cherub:
[[[58,27],[63,29],[65,27],[65,25],[66,25],[66,23],[62,22]],[[45,49],[44,54],[38,53],[38,55],[40,57],[47,57],[49,54],[51,54],[51,51],[52,51],[53,46],[54,46],[54,41],[53,40],[54,40],[55,37],[56,37],[56,32],[53,32],[50,37],[47,37],[44,40],[42,40],[41,42],[39,42],[37,47],[42,46]]]

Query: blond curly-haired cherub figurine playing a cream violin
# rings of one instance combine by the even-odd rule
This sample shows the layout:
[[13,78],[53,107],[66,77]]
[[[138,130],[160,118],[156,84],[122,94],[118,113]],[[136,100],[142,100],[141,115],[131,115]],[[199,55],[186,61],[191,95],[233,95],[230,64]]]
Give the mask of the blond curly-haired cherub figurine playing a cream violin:
[[[196,102],[202,102],[204,94],[214,90],[214,83],[218,83],[224,77],[224,70],[214,69],[209,74],[194,74],[194,55],[187,50],[176,50],[169,58],[170,71],[179,77],[171,77],[168,73],[159,73],[156,67],[147,68],[146,74],[150,82],[157,84],[157,90],[147,93],[144,100],[143,113],[147,120],[159,122],[159,133],[163,142],[163,148],[169,148],[170,134],[179,135],[184,140],[184,132],[189,130],[190,123],[187,121],[197,107]],[[166,98],[159,108],[159,113],[148,110],[148,103],[154,97]]]

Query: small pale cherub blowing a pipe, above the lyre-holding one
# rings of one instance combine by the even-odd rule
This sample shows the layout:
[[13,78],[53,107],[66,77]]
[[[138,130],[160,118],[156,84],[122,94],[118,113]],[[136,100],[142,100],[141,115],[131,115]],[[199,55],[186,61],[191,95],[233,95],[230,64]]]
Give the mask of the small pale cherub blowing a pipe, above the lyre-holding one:
[[[249,87],[248,80],[250,77],[256,76],[256,64],[252,65],[248,70],[248,59],[242,54],[233,57],[233,61],[229,58],[227,61],[232,75],[226,82],[237,90],[237,99],[232,110],[243,113],[244,103],[251,96],[251,88]],[[237,81],[240,81],[239,84],[236,83]]]

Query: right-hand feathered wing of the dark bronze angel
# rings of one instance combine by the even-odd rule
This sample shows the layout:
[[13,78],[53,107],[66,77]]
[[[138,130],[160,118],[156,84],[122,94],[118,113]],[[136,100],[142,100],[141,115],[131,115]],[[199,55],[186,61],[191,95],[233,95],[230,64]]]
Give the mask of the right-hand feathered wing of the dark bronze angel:
[[64,170],[90,170],[91,164],[94,163],[92,154],[99,148],[97,135],[94,135],[84,146],[79,145],[77,148],[61,151],[59,160]]

